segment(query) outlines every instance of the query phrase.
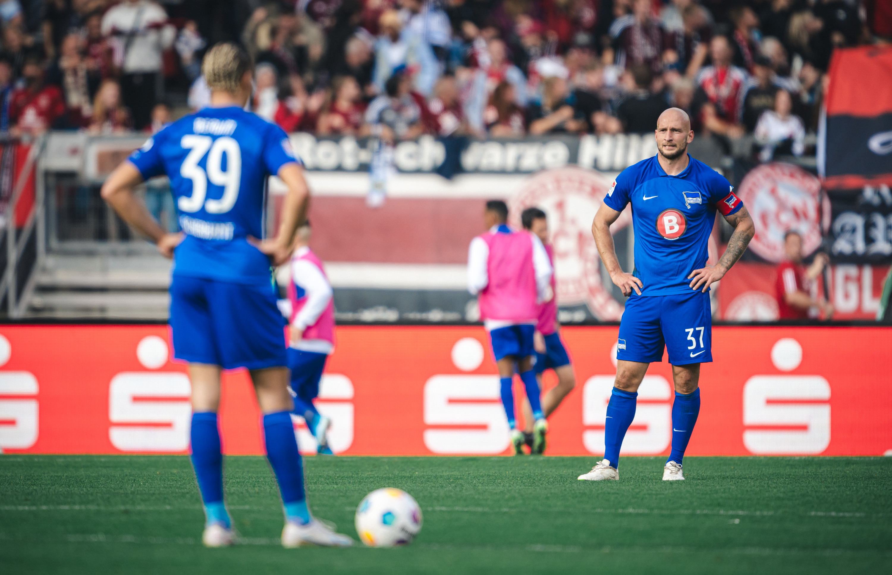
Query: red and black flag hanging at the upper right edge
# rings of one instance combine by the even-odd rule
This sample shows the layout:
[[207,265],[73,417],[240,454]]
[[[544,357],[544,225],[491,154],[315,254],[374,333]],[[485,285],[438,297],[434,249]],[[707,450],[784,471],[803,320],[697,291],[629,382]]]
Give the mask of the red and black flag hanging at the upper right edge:
[[818,170],[824,187],[892,185],[892,46],[834,51]]

